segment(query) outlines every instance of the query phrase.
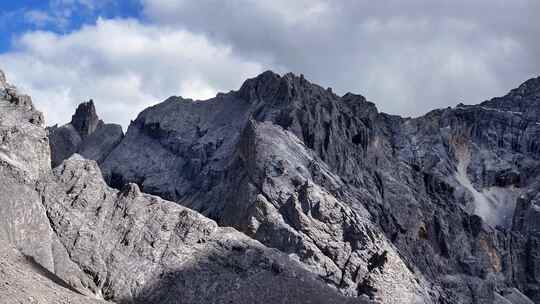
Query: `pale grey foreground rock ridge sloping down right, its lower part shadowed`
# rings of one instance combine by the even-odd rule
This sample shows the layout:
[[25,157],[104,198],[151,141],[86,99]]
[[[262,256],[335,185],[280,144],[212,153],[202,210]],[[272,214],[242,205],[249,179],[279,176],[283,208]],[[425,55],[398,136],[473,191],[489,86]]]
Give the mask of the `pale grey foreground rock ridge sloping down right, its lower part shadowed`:
[[[53,230],[105,299],[135,303],[345,303],[296,262],[204,216],[110,189],[77,155],[43,184]],[[360,301],[361,302],[361,301]]]

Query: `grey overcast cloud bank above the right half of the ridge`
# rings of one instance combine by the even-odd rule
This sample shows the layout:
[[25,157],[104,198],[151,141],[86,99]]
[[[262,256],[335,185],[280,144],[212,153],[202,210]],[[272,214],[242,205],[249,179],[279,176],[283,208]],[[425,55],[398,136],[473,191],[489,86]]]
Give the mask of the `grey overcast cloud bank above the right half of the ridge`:
[[155,23],[390,113],[477,103],[540,73],[535,0],[142,1]]

